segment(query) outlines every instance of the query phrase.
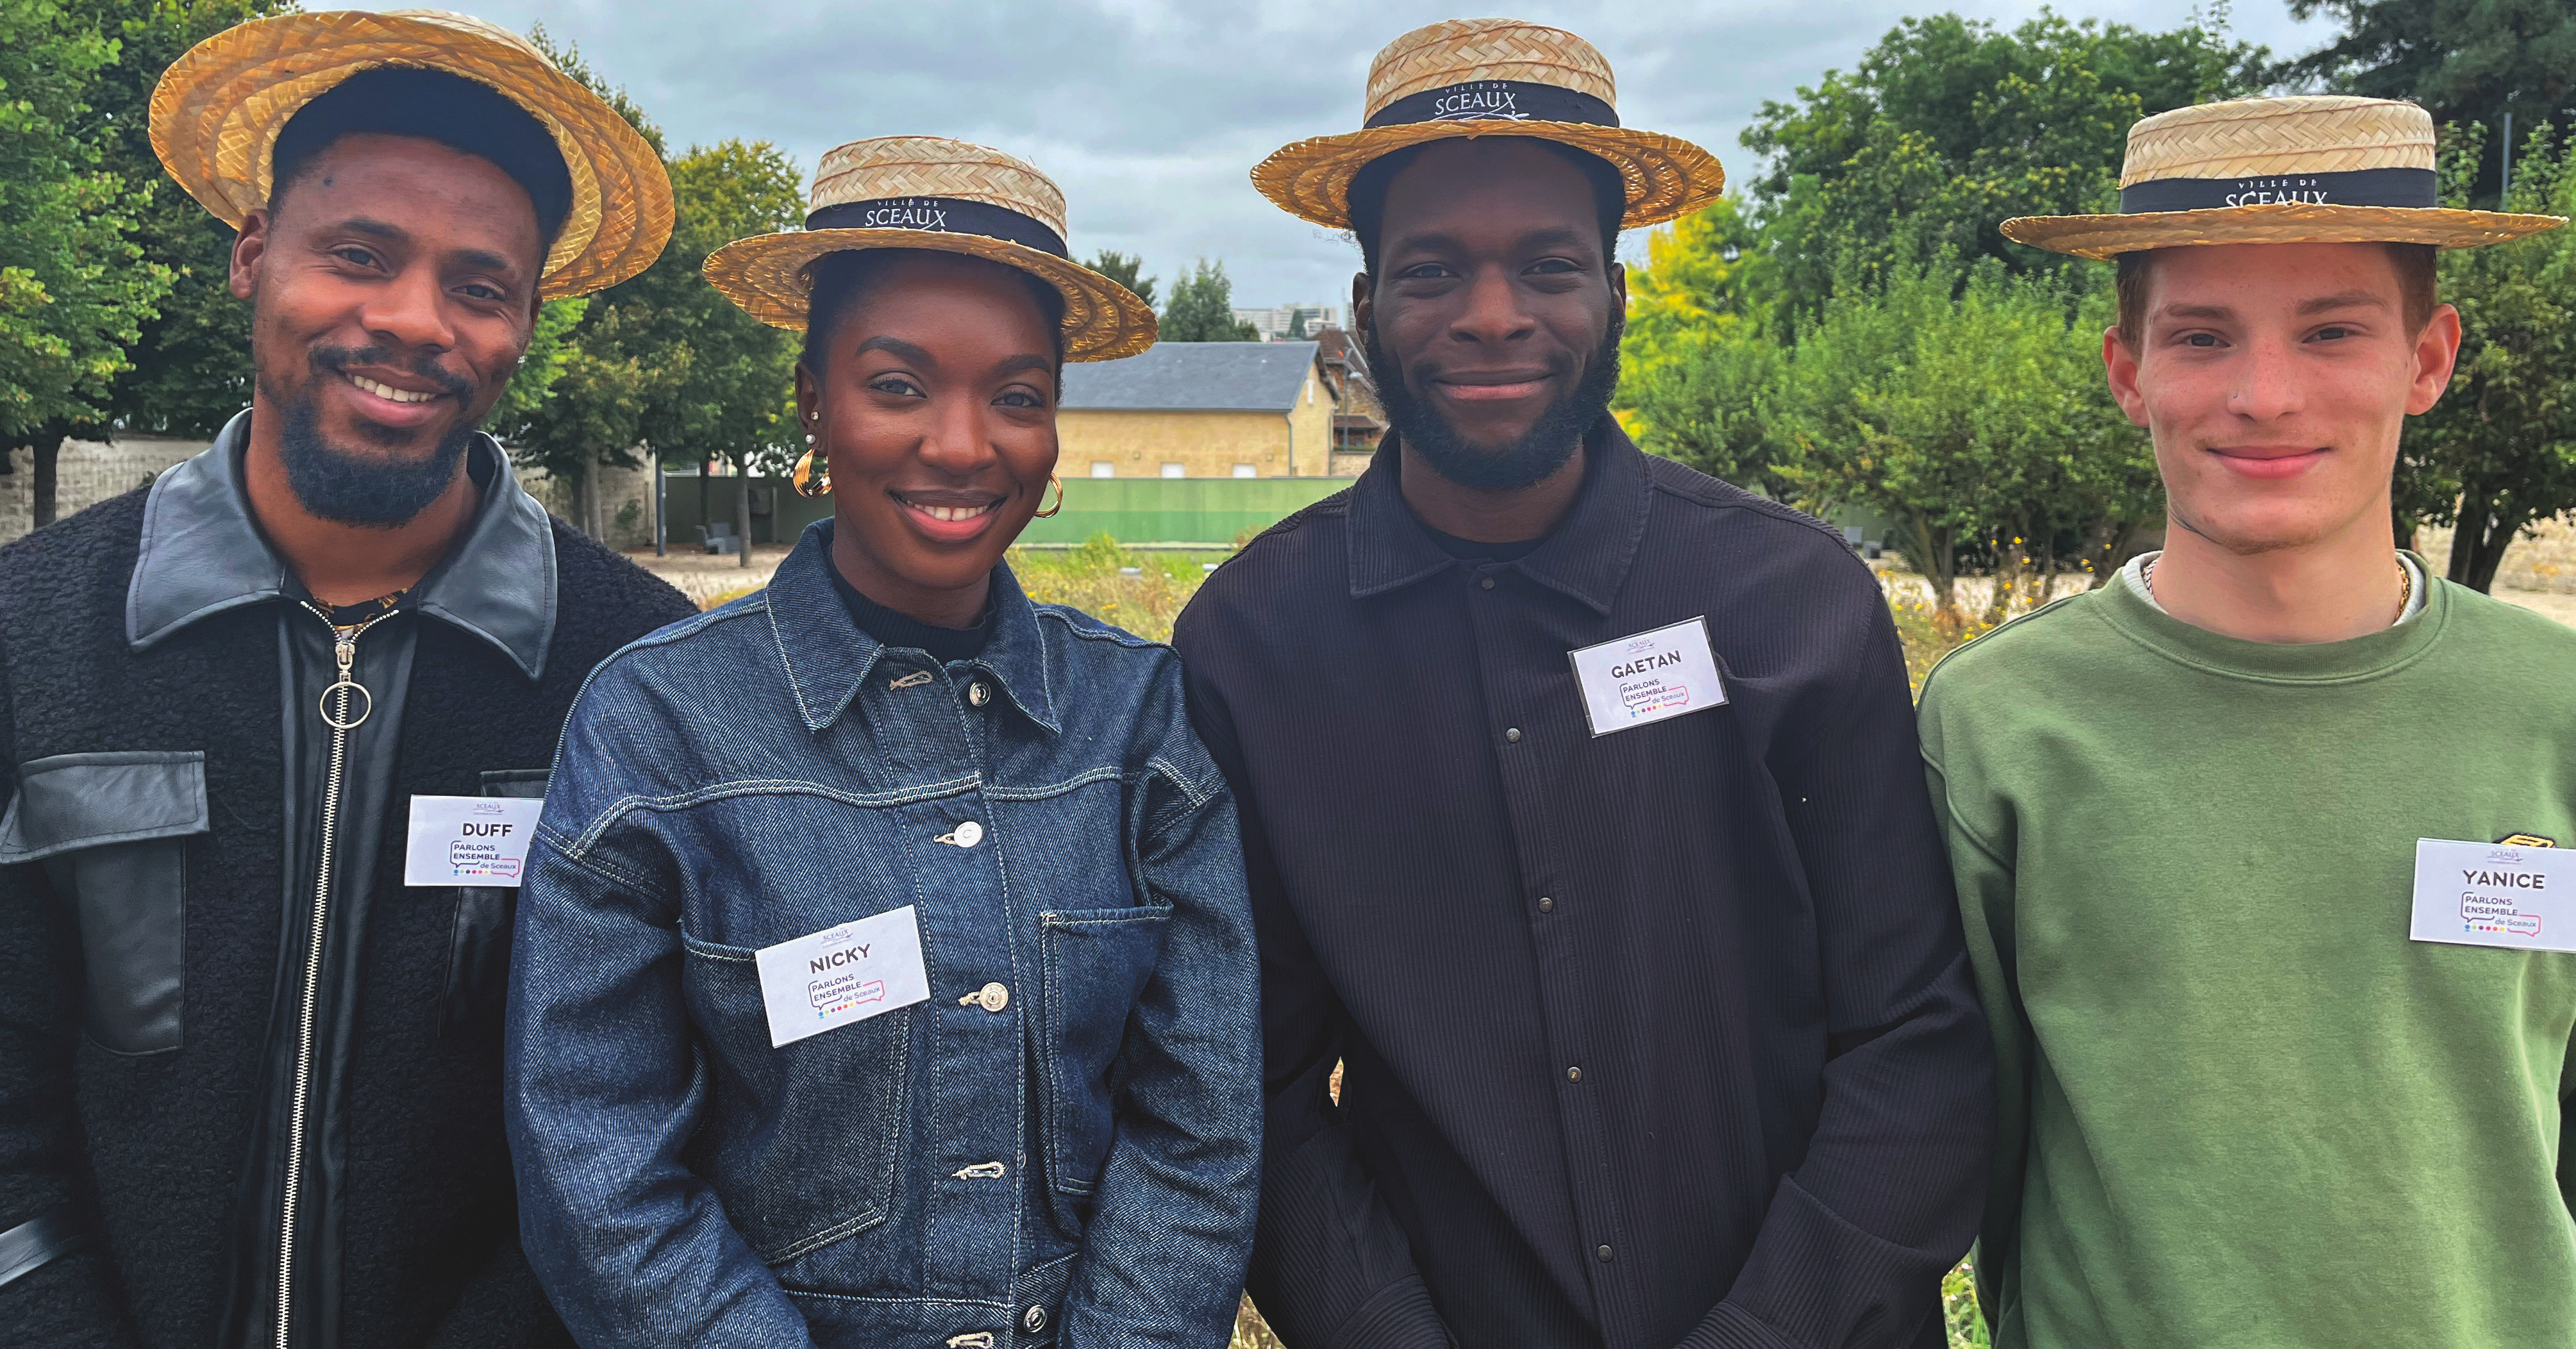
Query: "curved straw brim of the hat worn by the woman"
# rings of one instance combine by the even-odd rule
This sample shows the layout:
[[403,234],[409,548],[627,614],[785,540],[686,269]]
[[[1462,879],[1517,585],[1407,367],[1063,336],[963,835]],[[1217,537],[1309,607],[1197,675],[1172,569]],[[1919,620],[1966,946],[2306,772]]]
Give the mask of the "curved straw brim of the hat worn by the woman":
[[817,257],[871,247],[963,252],[1020,268],[1064,296],[1064,358],[1118,360],[1154,345],[1154,309],[1136,291],[1054,252],[987,234],[930,229],[791,229],[734,239],[706,257],[706,281],[744,314],[804,332]]

